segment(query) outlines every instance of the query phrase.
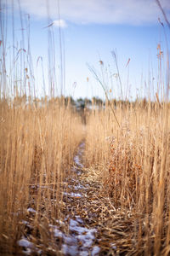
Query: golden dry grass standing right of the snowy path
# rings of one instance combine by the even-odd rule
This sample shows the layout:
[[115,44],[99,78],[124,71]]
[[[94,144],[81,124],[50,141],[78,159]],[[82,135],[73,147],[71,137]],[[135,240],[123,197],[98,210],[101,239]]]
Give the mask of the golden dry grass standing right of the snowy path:
[[133,216],[129,255],[170,252],[169,111],[167,104],[160,108],[158,103],[118,106],[121,129],[109,107],[88,117],[88,165],[98,166],[104,191],[116,209],[122,209],[123,216],[127,212],[127,218],[129,212]]

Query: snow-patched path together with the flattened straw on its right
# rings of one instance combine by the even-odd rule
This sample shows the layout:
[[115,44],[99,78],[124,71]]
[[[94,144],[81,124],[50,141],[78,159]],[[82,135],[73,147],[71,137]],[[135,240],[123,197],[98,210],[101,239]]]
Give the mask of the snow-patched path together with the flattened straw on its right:
[[61,232],[61,224],[55,236],[60,237],[65,255],[124,255],[131,244],[131,238],[126,235],[130,218],[116,211],[113,201],[102,193],[99,175],[93,169],[84,168],[84,148],[85,144],[81,143],[71,176],[66,179],[68,185],[61,212],[68,232],[67,235]]

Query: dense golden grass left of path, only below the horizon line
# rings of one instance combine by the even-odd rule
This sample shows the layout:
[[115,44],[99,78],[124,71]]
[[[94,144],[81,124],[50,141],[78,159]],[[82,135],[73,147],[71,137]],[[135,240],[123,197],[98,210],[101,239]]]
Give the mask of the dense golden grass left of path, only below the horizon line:
[[36,211],[31,222],[37,237],[48,239],[42,218],[59,218],[60,190],[83,127],[70,104],[60,100],[39,106],[1,100],[0,116],[0,251],[14,253],[29,207]]

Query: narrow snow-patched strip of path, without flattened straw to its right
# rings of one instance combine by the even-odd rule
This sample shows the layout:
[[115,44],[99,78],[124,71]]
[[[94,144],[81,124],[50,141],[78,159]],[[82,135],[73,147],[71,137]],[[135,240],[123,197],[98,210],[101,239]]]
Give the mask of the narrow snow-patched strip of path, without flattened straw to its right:
[[[82,154],[84,143],[81,143],[74,157],[71,176],[66,178],[67,186],[63,192],[64,205],[61,209],[65,221],[60,230],[55,229],[55,236],[61,240],[61,252],[65,255],[99,255],[100,248],[95,245],[97,229],[89,225],[88,194],[90,184],[82,179]],[[91,212],[91,214],[93,214]],[[87,222],[88,220],[88,222]],[[67,226],[67,233],[62,230]]]

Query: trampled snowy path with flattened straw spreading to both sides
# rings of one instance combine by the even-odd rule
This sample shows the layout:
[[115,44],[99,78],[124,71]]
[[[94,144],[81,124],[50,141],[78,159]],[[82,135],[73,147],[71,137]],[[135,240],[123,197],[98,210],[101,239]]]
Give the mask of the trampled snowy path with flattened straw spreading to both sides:
[[[115,209],[114,201],[104,193],[99,171],[83,166],[84,149],[81,143],[65,180],[60,217],[50,224],[44,216],[44,224],[38,226],[41,236],[33,231],[36,210],[27,209],[28,217],[22,221],[25,235],[17,241],[25,255],[135,254],[132,217]],[[40,239],[43,234],[45,243]]]

